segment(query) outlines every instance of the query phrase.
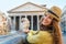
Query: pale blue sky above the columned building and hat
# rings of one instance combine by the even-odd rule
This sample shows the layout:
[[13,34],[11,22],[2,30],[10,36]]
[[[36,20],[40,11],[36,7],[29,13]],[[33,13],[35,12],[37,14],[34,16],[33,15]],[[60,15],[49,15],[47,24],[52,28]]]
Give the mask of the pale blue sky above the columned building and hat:
[[58,6],[62,9],[66,6],[66,0],[0,0],[0,10],[7,12],[25,2],[33,2],[36,4],[46,4],[47,8]]

